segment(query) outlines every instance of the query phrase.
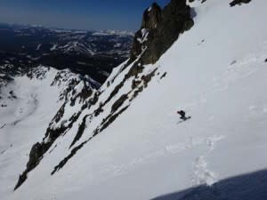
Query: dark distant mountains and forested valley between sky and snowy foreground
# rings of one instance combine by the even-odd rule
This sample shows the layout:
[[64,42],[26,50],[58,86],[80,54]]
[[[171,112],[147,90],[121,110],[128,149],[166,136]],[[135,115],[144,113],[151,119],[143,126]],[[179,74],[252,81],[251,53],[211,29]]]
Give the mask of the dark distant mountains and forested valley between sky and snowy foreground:
[[129,57],[133,38],[126,31],[0,24],[0,65],[70,68],[103,83],[112,68]]

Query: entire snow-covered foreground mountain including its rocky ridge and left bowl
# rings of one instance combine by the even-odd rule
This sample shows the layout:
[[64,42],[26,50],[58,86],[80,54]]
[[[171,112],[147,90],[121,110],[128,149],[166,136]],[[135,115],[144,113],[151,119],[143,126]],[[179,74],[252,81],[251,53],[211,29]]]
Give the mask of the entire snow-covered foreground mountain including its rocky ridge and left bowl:
[[100,89],[47,68],[7,84],[2,198],[267,199],[266,8],[152,4]]

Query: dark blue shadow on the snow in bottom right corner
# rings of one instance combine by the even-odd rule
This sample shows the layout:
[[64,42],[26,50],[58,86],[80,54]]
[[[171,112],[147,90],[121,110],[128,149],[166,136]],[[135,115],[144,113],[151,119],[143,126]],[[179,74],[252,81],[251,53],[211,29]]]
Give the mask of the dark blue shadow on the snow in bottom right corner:
[[212,187],[200,185],[152,200],[266,200],[267,170],[231,177]]

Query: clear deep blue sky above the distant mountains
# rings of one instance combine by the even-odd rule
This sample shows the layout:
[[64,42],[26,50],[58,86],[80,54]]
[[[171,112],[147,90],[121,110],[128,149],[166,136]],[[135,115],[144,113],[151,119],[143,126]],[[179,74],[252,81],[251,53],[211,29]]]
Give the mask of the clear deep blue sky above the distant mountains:
[[[1,0],[0,22],[53,28],[136,30],[155,0]],[[161,6],[169,0],[156,0]]]

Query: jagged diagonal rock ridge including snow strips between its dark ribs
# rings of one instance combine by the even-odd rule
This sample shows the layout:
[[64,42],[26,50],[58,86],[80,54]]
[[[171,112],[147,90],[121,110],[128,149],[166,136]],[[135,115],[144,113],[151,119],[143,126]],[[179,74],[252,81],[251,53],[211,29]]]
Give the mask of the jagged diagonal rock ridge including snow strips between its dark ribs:
[[[45,132],[44,140],[41,143],[36,143],[29,154],[29,161],[26,170],[20,175],[20,179],[15,187],[20,185],[27,179],[27,174],[40,163],[44,154],[53,147],[54,142],[60,137],[69,132],[74,124],[78,123],[77,134],[69,144],[69,155],[61,160],[54,167],[53,175],[59,171],[68,161],[74,156],[80,148],[93,137],[105,130],[112,124],[117,116],[123,114],[129,108],[140,92],[143,92],[148,87],[153,76],[156,76],[158,68],[146,68],[144,65],[155,63],[160,56],[174,43],[180,34],[193,26],[193,20],[190,16],[190,6],[186,4],[186,0],[172,0],[163,10],[158,4],[152,4],[143,14],[142,28],[135,34],[134,44],[131,52],[131,58],[125,61],[119,68],[117,74],[123,76],[121,81],[117,81],[117,76],[109,78],[104,84],[104,90],[87,92],[79,90],[79,92],[68,90],[66,102],[62,105],[57,115],[54,116],[51,124]],[[141,36],[141,37],[140,37]],[[165,74],[158,76],[164,77]],[[122,88],[126,82],[132,83],[132,87],[127,92],[122,92]],[[72,90],[75,90],[75,86]],[[85,86],[85,84],[84,84]],[[109,88],[113,88],[110,90]],[[106,90],[109,89],[109,92]],[[108,93],[108,98],[103,99],[102,93]],[[79,96],[80,100],[73,101],[72,96]],[[78,105],[78,106],[77,106]],[[72,116],[64,116],[64,110],[69,107],[77,107],[77,110]],[[101,116],[103,110],[109,110],[107,116]],[[94,119],[101,118],[101,124],[96,127],[91,127],[90,124]],[[80,122],[80,123],[79,123]],[[90,136],[86,140],[81,140],[86,130],[91,130]]]

